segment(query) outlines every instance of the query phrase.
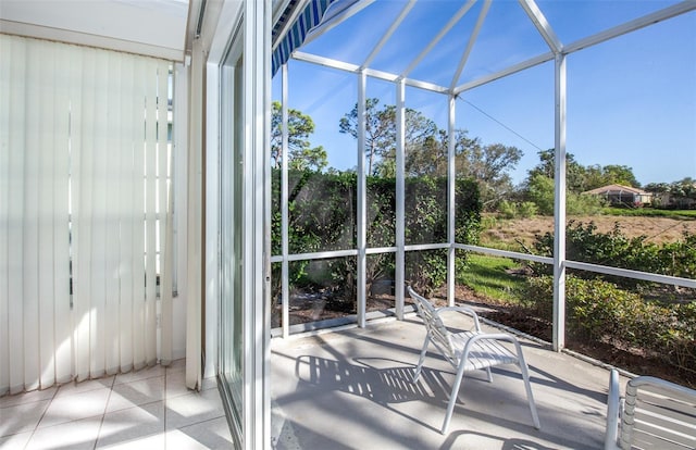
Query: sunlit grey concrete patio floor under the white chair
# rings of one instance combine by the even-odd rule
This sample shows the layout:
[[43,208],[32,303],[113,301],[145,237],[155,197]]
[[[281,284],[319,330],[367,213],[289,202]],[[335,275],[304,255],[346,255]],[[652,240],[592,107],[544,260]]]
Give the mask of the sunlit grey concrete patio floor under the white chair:
[[[462,315],[448,325],[463,327]],[[497,330],[484,326],[488,330]],[[277,449],[599,449],[609,371],[521,339],[542,423],[532,426],[517,366],[467,376],[447,435],[439,433],[455,373],[428,352],[415,315],[314,336],[273,339],[272,441]],[[625,380],[621,380],[625,386]]]

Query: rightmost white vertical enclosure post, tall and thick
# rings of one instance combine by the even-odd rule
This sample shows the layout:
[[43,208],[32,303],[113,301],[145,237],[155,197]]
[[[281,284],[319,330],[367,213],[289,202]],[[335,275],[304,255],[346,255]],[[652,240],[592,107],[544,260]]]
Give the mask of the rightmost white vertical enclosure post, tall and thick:
[[554,350],[566,347],[566,55],[556,55]]

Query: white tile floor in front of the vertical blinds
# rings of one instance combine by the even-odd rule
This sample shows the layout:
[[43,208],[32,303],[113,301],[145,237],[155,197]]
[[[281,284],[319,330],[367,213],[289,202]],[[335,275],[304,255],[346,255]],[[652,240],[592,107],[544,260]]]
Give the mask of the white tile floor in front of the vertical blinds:
[[185,360],[0,398],[0,449],[229,449],[215,378],[185,386]]

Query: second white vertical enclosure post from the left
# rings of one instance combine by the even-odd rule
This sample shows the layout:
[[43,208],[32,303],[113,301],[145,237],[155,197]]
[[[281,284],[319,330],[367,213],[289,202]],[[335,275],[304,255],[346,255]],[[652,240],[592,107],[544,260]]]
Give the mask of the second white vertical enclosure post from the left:
[[358,74],[358,326],[365,326],[365,272],[366,272],[366,208],[365,208],[365,90],[368,76],[364,71]]

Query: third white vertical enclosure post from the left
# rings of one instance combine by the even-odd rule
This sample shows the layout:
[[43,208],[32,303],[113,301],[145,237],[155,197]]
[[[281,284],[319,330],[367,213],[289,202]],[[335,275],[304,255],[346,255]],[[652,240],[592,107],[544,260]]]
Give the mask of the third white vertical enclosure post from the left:
[[406,183],[403,162],[406,153],[406,84],[396,84],[396,279],[394,299],[396,316],[403,320],[403,285],[406,283]]

